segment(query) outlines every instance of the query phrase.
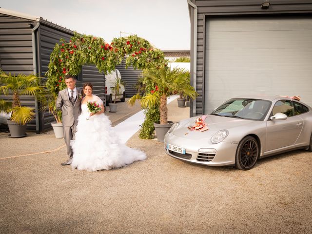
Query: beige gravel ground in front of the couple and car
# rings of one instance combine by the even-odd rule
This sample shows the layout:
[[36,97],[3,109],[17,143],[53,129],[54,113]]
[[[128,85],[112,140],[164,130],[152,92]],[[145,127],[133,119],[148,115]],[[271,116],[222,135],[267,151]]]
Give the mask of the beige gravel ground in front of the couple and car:
[[[188,114],[169,104],[169,120]],[[23,139],[42,141],[41,149],[61,142],[43,134]],[[0,143],[6,155],[31,152],[1,135]],[[138,133],[127,144],[147,159],[95,173],[61,167],[65,148],[0,158],[0,233],[312,233],[312,152],[239,171],[172,158],[163,143]]]

